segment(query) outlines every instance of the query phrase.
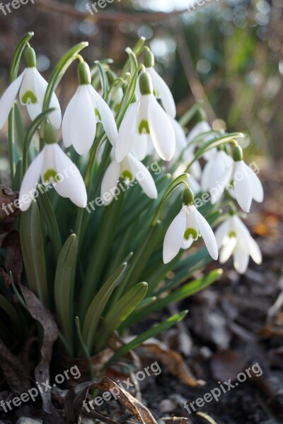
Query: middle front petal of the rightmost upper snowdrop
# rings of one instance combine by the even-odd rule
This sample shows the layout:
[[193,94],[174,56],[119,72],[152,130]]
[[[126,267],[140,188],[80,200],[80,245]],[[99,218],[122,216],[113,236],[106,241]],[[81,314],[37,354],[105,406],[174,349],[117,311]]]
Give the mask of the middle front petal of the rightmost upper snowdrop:
[[239,206],[241,206],[243,211],[249,212],[253,193],[243,160],[236,162],[233,189]]

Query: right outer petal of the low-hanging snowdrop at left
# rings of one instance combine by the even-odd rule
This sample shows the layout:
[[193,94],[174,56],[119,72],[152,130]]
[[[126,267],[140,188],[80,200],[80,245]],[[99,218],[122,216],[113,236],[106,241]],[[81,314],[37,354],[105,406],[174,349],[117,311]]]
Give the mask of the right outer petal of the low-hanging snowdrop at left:
[[58,174],[63,175],[61,182],[54,184],[54,189],[69,199],[79,208],[85,208],[87,204],[86,186],[83,177],[76,165],[62,151],[58,144],[52,144],[54,149],[55,165]]

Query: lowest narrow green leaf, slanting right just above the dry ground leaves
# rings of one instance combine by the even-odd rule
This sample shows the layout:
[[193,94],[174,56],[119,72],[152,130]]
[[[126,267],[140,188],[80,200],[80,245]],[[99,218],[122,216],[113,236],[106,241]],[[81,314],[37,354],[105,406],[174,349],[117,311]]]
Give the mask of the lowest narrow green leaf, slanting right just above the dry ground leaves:
[[125,355],[127,352],[131,351],[132,349],[137,348],[138,346],[141,345],[141,343],[144,343],[144,341],[148,340],[151,337],[158,336],[158,334],[163,333],[163,331],[170,329],[171,326],[182,321],[182,319],[184,319],[185,316],[187,315],[187,312],[188,311],[185,310],[183,312],[175,314],[172,317],[166,319],[166,321],[161,322],[161,324],[156,324],[151,329],[144,331],[144,333],[142,334],[139,334],[139,336],[135,337],[134,340],[125,344],[125,346],[122,346],[122,348],[120,348],[119,351],[117,351],[115,355],[112,356],[112,358],[105,365],[104,370],[108,368],[110,363],[113,363],[115,360],[121,358],[122,355]]

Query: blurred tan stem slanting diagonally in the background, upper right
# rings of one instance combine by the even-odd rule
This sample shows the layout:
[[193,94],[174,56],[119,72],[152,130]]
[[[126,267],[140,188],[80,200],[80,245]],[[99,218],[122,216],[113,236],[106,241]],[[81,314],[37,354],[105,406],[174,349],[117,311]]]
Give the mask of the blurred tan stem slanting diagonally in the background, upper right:
[[190,89],[192,90],[192,95],[195,97],[197,102],[202,103],[202,107],[204,108],[205,112],[207,112],[209,121],[212,122],[214,119],[216,119],[216,114],[212,108],[212,105],[209,103],[200,79],[197,78],[195,66],[192,61],[190,49],[187,45],[187,40],[183,30],[183,24],[180,19],[177,20],[171,18],[170,22],[173,34],[175,36],[180,61],[183,64],[185,76],[187,77],[187,82],[189,83]]

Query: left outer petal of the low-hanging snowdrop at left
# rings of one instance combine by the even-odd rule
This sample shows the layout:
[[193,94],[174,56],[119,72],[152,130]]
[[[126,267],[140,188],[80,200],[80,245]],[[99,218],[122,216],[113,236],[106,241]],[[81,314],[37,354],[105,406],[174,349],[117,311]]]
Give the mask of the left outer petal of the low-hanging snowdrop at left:
[[[20,194],[18,199],[20,201],[21,211],[27,211],[30,207],[31,202],[33,201],[33,191],[36,188],[37,182],[40,179],[40,173],[42,170],[43,160],[45,159],[45,148],[37,155],[35,160],[28,167],[27,172],[23,177],[23,182],[21,184]],[[24,196],[24,197],[23,197]],[[28,196],[28,199],[25,197]]]

